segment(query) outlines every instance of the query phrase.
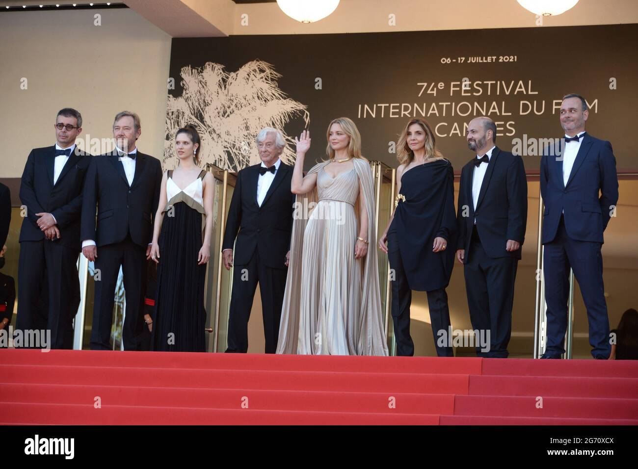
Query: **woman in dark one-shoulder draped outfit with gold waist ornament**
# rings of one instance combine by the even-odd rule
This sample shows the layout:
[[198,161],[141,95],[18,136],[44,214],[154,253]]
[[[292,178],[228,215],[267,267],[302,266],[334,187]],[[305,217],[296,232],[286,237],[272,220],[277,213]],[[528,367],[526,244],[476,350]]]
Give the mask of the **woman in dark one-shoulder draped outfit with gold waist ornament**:
[[450,283],[456,246],[454,170],[436,150],[434,133],[422,119],[408,123],[397,149],[401,165],[396,208],[379,239],[394,270],[392,320],[397,355],[414,355],[410,304],[412,290],[417,290],[427,294],[436,354],[452,357],[445,287]]

